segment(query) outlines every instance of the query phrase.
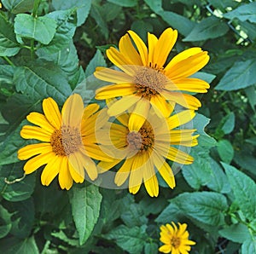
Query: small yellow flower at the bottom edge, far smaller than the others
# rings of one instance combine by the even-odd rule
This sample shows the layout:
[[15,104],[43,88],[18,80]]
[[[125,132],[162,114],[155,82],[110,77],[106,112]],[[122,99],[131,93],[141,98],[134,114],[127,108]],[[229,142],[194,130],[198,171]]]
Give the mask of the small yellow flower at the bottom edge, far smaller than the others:
[[178,223],[178,227],[172,222],[172,225],[166,224],[160,226],[160,241],[164,244],[160,246],[159,251],[172,254],[189,254],[190,245],[195,245],[195,241],[189,240],[189,232],[186,230],[186,223]]

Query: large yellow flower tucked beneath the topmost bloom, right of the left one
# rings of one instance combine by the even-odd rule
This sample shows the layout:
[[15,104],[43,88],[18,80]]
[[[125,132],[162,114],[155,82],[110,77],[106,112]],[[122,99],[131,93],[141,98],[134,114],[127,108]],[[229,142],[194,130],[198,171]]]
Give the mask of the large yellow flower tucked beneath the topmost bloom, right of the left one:
[[178,164],[191,164],[193,158],[188,153],[184,153],[180,147],[197,145],[198,135],[192,136],[195,130],[173,129],[188,123],[194,116],[194,111],[184,110],[166,119],[159,118],[151,110],[143,126],[139,130],[136,126],[136,130],[132,130],[128,128],[130,114],[119,115],[118,121],[108,122],[96,132],[102,150],[105,151],[106,148],[106,151],[112,151],[115,155],[112,162],[101,161],[98,164],[100,172],[110,170],[123,162],[115,175],[114,182],[117,186],[121,186],[129,178],[130,193],[137,193],[144,182],[148,194],[157,197],[159,194],[158,180],[155,176],[157,171],[168,186],[174,188],[174,175],[166,159]]

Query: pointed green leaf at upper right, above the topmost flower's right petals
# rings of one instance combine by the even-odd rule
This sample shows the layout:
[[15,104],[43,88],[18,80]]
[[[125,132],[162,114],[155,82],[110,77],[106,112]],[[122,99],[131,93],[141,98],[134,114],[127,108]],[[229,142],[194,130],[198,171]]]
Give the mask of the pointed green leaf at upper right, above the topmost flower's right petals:
[[211,16],[196,24],[183,42],[196,42],[223,36],[229,31],[229,26],[220,19]]

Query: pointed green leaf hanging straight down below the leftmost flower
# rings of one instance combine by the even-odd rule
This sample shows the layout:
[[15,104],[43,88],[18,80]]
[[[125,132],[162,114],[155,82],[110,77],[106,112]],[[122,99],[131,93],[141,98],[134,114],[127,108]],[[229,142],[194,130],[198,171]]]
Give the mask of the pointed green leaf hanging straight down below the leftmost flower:
[[86,188],[73,187],[69,200],[72,205],[73,220],[79,232],[79,243],[83,245],[100,215],[102,195],[95,185]]

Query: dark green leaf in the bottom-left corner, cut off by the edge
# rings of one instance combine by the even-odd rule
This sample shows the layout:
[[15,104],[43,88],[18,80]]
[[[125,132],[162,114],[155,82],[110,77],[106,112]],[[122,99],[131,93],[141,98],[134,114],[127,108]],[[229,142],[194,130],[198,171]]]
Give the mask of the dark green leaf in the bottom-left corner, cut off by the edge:
[[8,239],[0,240],[0,252],[4,254],[39,254],[38,245],[34,237],[20,239],[9,237]]

